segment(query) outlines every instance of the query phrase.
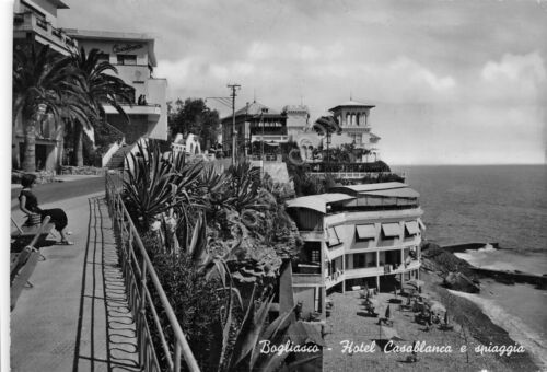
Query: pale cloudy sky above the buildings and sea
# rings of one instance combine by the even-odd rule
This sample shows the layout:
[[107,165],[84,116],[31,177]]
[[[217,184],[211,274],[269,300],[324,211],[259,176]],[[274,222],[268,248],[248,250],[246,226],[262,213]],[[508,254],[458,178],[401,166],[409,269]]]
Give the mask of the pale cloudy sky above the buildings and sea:
[[[547,2],[65,0],[63,27],[150,33],[168,95],[374,104],[393,164],[544,163]],[[228,114],[219,105],[212,107]]]

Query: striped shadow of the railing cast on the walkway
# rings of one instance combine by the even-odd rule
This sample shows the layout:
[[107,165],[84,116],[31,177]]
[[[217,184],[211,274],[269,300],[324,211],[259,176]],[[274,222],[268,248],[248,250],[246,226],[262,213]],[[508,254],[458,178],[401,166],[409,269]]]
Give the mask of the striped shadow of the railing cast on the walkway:
[[140,371],[116,240],[103,198],[89,199],[90,220],[73,371]]

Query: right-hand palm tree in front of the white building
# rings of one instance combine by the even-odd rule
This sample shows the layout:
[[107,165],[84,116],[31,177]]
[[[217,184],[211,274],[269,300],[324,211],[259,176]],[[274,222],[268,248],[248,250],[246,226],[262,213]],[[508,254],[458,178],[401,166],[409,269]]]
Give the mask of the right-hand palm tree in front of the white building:
[[79,71],[79,83],[82,86],[85,98],[95,111],[94,120],[75,120],[74,125],[74,165],[83,165],[83,129],[90,129],[94,124],[106,117],[103,105],[110,105],[129,121],[121,104],[132,105],[133,88],[127,85],[124,80],[115,74],[118,73],[110,62],[101,59],[98,49],[91,49],[85,54],[80,53],[71,56],[72,66]]

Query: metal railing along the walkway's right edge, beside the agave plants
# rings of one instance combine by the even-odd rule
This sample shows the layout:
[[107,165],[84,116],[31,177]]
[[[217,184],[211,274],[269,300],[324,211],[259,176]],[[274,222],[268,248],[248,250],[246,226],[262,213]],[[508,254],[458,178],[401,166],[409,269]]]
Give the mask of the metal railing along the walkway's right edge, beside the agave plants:
[[[106,200],[113,220],[114,230],[120,242],[121,270],[128,294],[129,307],[137,326],[137,347],[139,363],[143,371],[162,371],[155,347],[163,350],[168,371],[181,371],[182,358],[189,371],[198,371],[199,367],[184,336],[175,312],[163,290],[152,263],[135,224],[121,200],[121,179],[119,175],[106,174]],[[159,298],[161,309],[152,301],[151,290]],[[174,340],[168,345],[166,329],[162,327],[159,314],[167,317],[168,328]],[[148,319],[152,319],[149,324]],[[152,328],[153,327],[153,328]],[[154,345],[151,328],[158,334],[159,344]]]

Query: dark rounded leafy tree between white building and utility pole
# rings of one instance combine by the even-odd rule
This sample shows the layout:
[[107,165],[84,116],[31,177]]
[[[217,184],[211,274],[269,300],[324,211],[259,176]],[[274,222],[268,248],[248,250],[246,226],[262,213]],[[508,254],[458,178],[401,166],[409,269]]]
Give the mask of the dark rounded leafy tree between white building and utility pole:
[[219,112],[207,107],[201,98],[178,98],[171,105],[168,128],[172,136],[193,133],[199,137],[201,149],[209,149],[217,142],[220,132]]

